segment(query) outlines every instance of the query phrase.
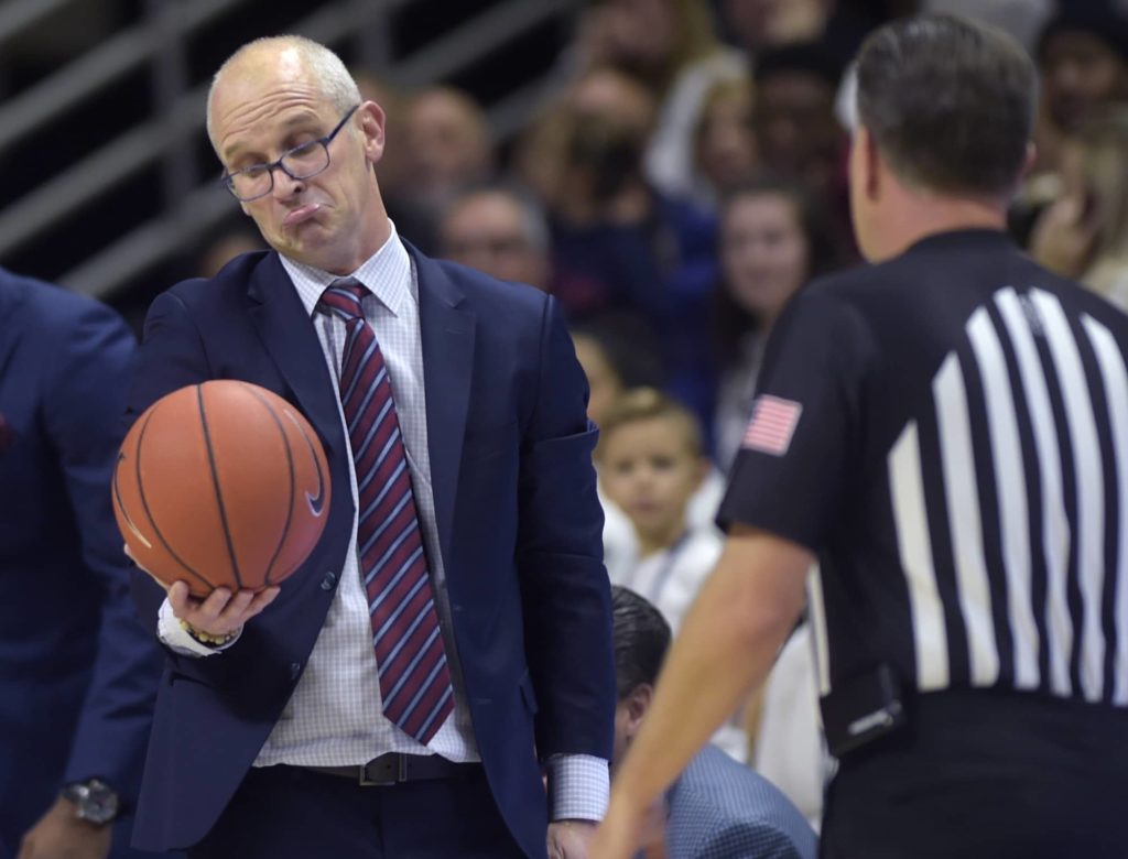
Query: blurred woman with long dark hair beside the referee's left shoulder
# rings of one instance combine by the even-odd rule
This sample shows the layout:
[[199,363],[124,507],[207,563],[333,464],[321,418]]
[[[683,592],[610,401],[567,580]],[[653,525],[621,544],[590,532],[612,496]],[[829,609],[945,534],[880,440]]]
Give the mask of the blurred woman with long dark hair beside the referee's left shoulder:
[[732,192],[722,207],[714,343],[719,382],[712,422],[714,457],[722,471],[732,463],[748,425],[773,322],[800,286],[832,267],[825,221],[814,196],[783,179],[748,184]]

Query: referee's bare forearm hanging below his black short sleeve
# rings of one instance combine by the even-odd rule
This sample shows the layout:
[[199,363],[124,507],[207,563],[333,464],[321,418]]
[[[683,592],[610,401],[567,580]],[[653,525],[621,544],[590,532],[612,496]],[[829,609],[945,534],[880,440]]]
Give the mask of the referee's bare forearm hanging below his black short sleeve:
[[654,702],[611,785],[591,859],[629,859],[646,809],[744,696],[767,678],[804,602],[814,556],[733,525],[716,569],[686,618]]

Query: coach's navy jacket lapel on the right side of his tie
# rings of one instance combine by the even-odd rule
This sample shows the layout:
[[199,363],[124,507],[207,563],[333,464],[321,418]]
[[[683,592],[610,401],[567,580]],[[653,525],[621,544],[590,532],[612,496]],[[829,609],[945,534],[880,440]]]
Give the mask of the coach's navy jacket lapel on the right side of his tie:
[[431,486],[439,544],[449,566],[455,496],[474,369],[476,320],[469,309],[459,307],[462,302],[461,290],[447,273],[434,260],[404,243],[418,277]]

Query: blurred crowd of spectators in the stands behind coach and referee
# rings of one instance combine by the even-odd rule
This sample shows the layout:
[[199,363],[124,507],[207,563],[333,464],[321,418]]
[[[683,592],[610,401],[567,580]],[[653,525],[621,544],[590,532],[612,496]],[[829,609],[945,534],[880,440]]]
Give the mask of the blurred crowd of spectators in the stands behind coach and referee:
[[[773,322],[812,277],[862,263],[846,186],[851,57],[874,26],[919,9],[985,18],[1028,46],[1041,107],[1013,234],[1128,308],[1117,0],[593,0],[550,96],[501,142],[468,92],[406,92],[356,71],[388,114],[378,172],[398,232],[565,309],[602,431],[611,581],[675,632],[720,552],[713,516]],[[227,232],[202,272],[257,246]],[[716,742],[818,821],[828,762],[802,627],[764,700]]]

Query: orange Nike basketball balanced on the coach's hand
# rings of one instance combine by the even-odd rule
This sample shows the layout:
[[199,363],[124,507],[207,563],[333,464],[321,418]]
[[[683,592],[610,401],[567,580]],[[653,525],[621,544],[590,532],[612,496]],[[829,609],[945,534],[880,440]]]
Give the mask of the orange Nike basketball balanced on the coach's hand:
[[329,469],[299,411],[247,382],[210,381],[157,400],[122,444],[114,514],[134,560],[205,596],[277,584],[317,544]]

